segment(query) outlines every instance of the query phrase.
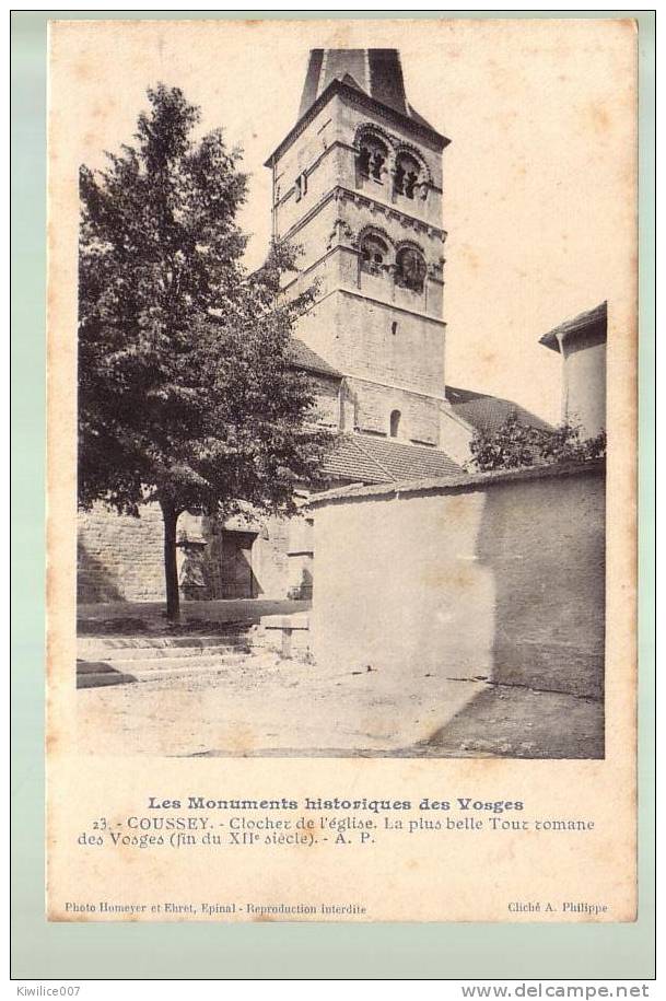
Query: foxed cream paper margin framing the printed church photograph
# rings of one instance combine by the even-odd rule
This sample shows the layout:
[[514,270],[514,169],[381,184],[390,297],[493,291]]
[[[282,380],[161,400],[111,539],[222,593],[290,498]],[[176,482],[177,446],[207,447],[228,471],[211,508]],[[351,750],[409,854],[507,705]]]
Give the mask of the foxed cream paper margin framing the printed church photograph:
[[[384,22],[388,30],[387,40],[399,38],[400,25],[409,28],[411,23],[399,20]],[[478,31],[479,22],[459,23],[467,30],[471,25],[472,39],[480,35],[480,42],[487,46],[487,50],[490,49],[494,54],[495,47],[501,46],[506,22],[493,21],[490,35],[486,30]],[[562,22],[553,20],[551,23],[557,44],[565,46],[566,30],[562,28]],[[629,54],[635,44],[633,23],[616,19],[598,23],[599,30],[608,33],[609,50],[616,51],[615,45],[619,44],[618,55],[620,51],[624,54],[628,61],[623,62],[623,66],[627,71],[631,65]],[[66,906],[65,903],[71,901],[77,886],[81,895],[94,893],[95,898],[97,894],[106,897],[112,895],[113,900],[115,894],[116,898],[122,900],[122,895],[129,894],[131,899],[137,897],[151,904],[155,899],[155,894],[159,899],[162,899],[164,894],[171,894],[172,896],[164,898],[177,903],[182,899],[180,895],[187,893],[188,887],[191,887],[195,896],[199,896],[205,893],[208,882],[206,871],[211,860],[206,860],[201,852],[187,854],[177,866],[167,861],[163,853],[160,859],[147,853],[144,859],[147,863],[150,859],[150,864],[139,862],[141,855],[138,855],[133,861],[139,864],[131,869],[131,883],[128,885],[126,878],[130,870],[126,866],[130,862],[129,857],[124,859],[121,852],[115,852],[102,864],[101,860],[96,861],[94,851],[92,854],[90,851],[81,852],[75,846],[77,830],[80,830],[80,825],[90,823],[90,816],[104,816],[108,811],[113,811],[114,816],[119,812],[121,816],[125,811],[128,814],[139,811],[140,804],[147,802],[148,792],[164,788],[165,783],[167,794],[172,798],[175,792],[178,799],[187,799],[187,793],[192,787],[202,787],[211,795],[220,781],[220,767],[208,760],[151,760],[149,756],[130,764],[126,758],[114,759],[108,756],[104,743],[93,759],[89,759],[87,756],[80,757],[74,750],[72,735],[77,725],[75,696],[72,696],[70,665],[75,661],[73,500],[77,414],[75,383],[72,379],[75,371],[75,340],[72,331],[75,328],[73,290],[77,283],[79,201],[75,184],[78,160],[77,154],[74,153],[72,159],[68,150],[68,137],[72,137],[73,149],[78,150],[78,142],[74,139],[79,135],[77,121],[80,120],[79,115],[84,116],[84,109],[79,102],[86,105],[85,84],[91,72],[95,72],[96,65],[96,61],[86,62],[87,54],[95,53],[94,59],[101,59],[104,66],[105,51],[108,50],[113,59],[114,45],[118,42],[122,42],[127,51],[137,54],[137,59],[140,59],[143,38],[143,44],[152,44],[154,38],[163,37],[164,43],[175,45],[177,51],[184,45],[188,51],[205,51],[209,39],[213,37],[218,45],[244,45],[253,27],[261,31],[260,37],[268,46],[279,46],[280,38],[284,35],[283,30],[278,31],[274,22],[244,21],[235,31],[227,30],[231,38],[226,42],[224,30],[217,31],[220,24],[221,22],[211,21],[197,23],[172,20],[164,24],[162,36],[153,30],[151,22],[145,21],[133,24],[115,22],[115,31],[114,22],[104,22],[100,25],[104,33],[98,36],[90,23],[79,22],[81,31],[75,34],[68,31],[71,23],[63,25],[58,22],[52,27],[52,78],[49,80],[52,103],[48,124],[50,155],[47,313],[49,920],[81,920],[80,911],[73,916],[71,909],[68,910],[72,905],[68,903]],[[288,22],[284,27],[292,34],[296,33],[300,38],[300,31],[305,33],[305,24],[306,22],[299,22],[296,19]],[[338,24],[339,22],[322,22],[328,36],[331,33],[336,36],[342,33],[342,44],[355,45],[361,37],[367,37],[367,28],[360,28],[358,22],[346,22],[340,24],[339,28]],[[381,22],[365,22],[373,37],[373,33],[381,32],[377,24]],[[445,37],[447,22],[444,20],[439,22],[439,25],[437,37]],[[528,34],[525,37],[534,37],[535,33],[537,37],[542,37],[544,32],[537,31],[533,25],[534,22],[526,22],[525,31]],[[601,25],[608,27],[603,28]],[[318,31],[317,28],[316,37]],[[581,34],[580,28],[576,28],[576,32]],[[519,30],[512,33],[521,37]],[[549,32],[546,34],[549,35]],[[589,36],[594,33],[585,31],[584,34]],[[309,35],[312,40],[312,32]],[[427,37],[428,34],[420,33],[423,42]],[[606,36],[601,34],[601,37]],[[105,42],[101,45],[102,38]],[[80,53],[83,58],[79,56]],[[127,71],[133,73],[135,65],[132,63],[131,68],[128,66]],[[116,86],[121,85],[120,81],[116,81]],[[627,91],[631,93],[630,85]],[[560,880],[562,885],[566,885],[569,895],[576,891],[582,892],[577,868],[585,860],[585,896],[593,900],[608,900],[610,912],[604,920],[634,919],[635,903],[631,876],[635,853],[632,808],[635,698],[635,276],[631,267],[631,255],[634,251],[634,207],[632,196],[627,200],[622,198],[622,185],[629,189],[633,179],[634,125],[631,112],[632,107],[624,98],[623,115],[620,115],[623,125],[620,163],[626,174],[621,181],[616,174],[615,188],[610,188],[615,193],[612,200],[609,201],[606,195],[606,200],[601,202],[607,206],[609,212],[612,212],[615,207],[622,207],[620,216],[616,218],[617,230],[607,225],[605,238],[615,238],[618,253],[626,255],[620,258],[623,260],[620,273],[618,275],[615,269],[610,272],[615,284],[612,293],[610,290],[608,293],[611,298],[611,313],[608,350],[607,749],[604,761],[456,760],[443,766],[443,763],[433,758],[418,763],[392,760],[390,764],[379,760],[371,763],[367,759],[337,760],[331,765],[324,758],[318,758],[316,763],[271,758],[260,763],[235,760],[233,766],[227,764],[224,768],[227,781],[233,788],[242,791],[244,795],[258,798],[261,798],[261,790],[269,790],[269,795],[288,790],[289,795],[297,796],[300,793],[302,796],[312,790],[313,783],[317,789],[322,789],[326,796],[331,787],[339,788],[341,783],[342,788],[352,788],[359,781],[363,787],[370,783],[378,788],[379,795],[398,799],[408,798],[410,794],[421,798],[427,787],[447,781],[452,784],[457,783],[458,789],[471,785],[480,798],[496,798],[502,794],[498,791],[496,784],[501,783],[503,790],[510,790],[510,798],[525,799],[531,804],[537,811],[537,816],[565,816],[568,810],[572,811],[574,816],[589,815],[594,817],[598,834],[591,835],[585,847],[581,845],[581,855],[576,854],[575,861],[572,854],[573,845],[569,846],[562,838],[523,839],[517,835],[506,835],[501,839],[504,843],[499,845],[500,839],[491,833],[486,836],[479,835],[479,839],[483,837],[483,841],[488,842],[489,862],[494,859],[493,878],[488,883],[475,870],[476,848],[470,842],[456,842],[456,862],[448,877],[446,849],[441,839],[434,839],[428,846],[419,846],[422,848],[420,852],[414,849],[413,863],[402,858],[404,848],[398,849],[395,838],[384,838],[382,850],[377,846],[372,850],[372,858],[364,858],[363,862],[358,855],[359,851],[361,854],[363,851],[357,847],[353,852],[344,853],[342,870],[336,875],[336,860],[332,857],[325,860],[322,851],[316,852],[315,859],[308,858],[307,862],[303,854],[288,855],[278,862],[278,858],[272,855],[266,859],[261,855],[260,859],[252,861],[249,855],[243,853],[230,869],[220,860],[221,868],[225,871],[222,881],[224,888],[220,891],[223,898],[226,895],[231,896],[231,899],[261,901],[264,893],[268,893],[271,899],[276,893],[287,892],[289,897],[285,899],[290,903],[293,903],[294,894],[295,900],[307,900],[308,894],[316,893],[319,893],[323,899],[330,899],[329,895],[335,894],[336,889],[338,893],[340,888],[346,894],[349,893],[344,883],[338,888],[338,881],[346,878],[342,873],[349,872],[350,878],[353,873],[353,883],[350,886],[354,887],[359,899],[367,904],[366,920],[372,916],[374,920],[474,920],[481,917],[486,920],[504,921],[509,916],[506,900],[512,899],[512,893],[518,894],[521,899],[530,894],[545,896],[547,899],[557,892],[556,886]],[[595,141],[595,135],[596,131],[593,131],[592,143]],[[589,140],[586,147],[588,143]],[[617,259],[616,254],[616,261]],[[507,795],[506,792],[503,794]],[[72,796],[74,799],[71,799]],[[83,800],[80,800],[80,796],[83,796]],[[71,823],[69,815],[72,816]],[[117,817],[114,823],[117,823]],[[392,843],[385,846],[384,842],[387,840]],[[541,858],[542,851],[548,854],[546,861]],[[255,854],[257,853],[258,849]],[[260,866],[259,872],[257,863]],[[463,871],[469,872],[469,877],[463,875]],[[285,889],[281,881],[287,881],[285,886],[289,889]],[[385,889],[377,881],[386,881]],[[522,887],[519,892],[516,888],[518,885]],[[484,893],[480,893],[482,886],[486,887]],[[605,894],[608,894],[606,898]],[[565,899],[572,898],[569,896]],[[512,920],[533,920],[529,909],[526,910],[527,913],[521,910],[517,918],[514,917]],[[173,910],[171,912],[174,913]],[[175,913],[178,913],[177,909]],[[145,919],[150,919],[150,911],[143,911],[142,920]],[[574,920],[585,919],[576,917]]]

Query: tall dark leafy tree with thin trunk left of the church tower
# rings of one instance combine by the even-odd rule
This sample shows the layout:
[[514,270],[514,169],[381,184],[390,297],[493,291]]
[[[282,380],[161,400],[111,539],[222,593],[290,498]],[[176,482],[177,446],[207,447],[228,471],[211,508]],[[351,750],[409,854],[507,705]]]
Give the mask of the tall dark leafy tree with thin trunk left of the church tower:
[[247,273],[236,212],[239,151],[199,140],[178,89],[148,91],[136,143],[81,168],[79,503],[159,502],[167,617],[179,617],[176,527],[185,510],[295,510],[325,449],[307,377],[289,362],[313,290],[279,295],[294,251]]

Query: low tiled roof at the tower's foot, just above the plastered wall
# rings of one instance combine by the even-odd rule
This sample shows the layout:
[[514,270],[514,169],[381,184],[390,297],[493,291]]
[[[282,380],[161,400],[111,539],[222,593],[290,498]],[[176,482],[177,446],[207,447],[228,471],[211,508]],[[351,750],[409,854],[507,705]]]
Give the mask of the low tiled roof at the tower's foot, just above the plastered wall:
[[370,434],[340,434],[324,464],[324,473],[331,479],[363,484],[390,484],[460,472],[461,467],[437,449]]

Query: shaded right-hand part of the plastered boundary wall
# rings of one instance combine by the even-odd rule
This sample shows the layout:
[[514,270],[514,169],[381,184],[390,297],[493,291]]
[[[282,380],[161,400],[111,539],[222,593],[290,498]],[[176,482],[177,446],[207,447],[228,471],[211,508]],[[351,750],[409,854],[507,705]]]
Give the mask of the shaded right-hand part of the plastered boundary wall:
[[477,555],[494,582],[491,680],[603,700],[605,480],[487,490]]

